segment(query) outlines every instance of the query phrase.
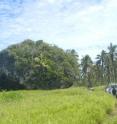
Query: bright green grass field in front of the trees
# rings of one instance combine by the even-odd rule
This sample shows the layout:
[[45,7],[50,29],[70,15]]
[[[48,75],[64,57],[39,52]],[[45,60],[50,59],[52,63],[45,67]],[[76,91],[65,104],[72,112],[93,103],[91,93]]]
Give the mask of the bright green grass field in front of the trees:
[[0,124],[117,124],[115,98],[101,88],[0,93]]

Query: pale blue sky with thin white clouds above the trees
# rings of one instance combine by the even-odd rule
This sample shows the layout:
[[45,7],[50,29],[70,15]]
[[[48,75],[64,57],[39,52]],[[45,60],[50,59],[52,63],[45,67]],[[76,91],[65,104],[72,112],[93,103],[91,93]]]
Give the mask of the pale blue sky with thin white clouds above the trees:
[[117,0],[0,0],[0,50],[25,39],[95,58],[117,44]]

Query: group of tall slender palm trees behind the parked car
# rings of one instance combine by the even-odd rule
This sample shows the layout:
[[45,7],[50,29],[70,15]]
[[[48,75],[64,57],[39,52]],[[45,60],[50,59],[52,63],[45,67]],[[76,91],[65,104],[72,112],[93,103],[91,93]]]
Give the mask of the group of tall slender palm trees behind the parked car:
[[81,60],[81,80],[87,86],[108,85],[117,82],[117,45],[110,43],[107,51],[102,50],[94,63],[89,55]]

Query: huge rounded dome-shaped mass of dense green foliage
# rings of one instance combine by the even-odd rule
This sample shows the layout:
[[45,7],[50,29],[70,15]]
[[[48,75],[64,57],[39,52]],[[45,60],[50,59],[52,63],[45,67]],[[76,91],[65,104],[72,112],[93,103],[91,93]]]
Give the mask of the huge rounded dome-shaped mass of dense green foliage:
[[64,51],[42,40],[25,40],[12,45],[0,52],[0,60],[1,75],[4,73],[8,79],[0,78],[1,89],[15,89],[3,86],[9,86],[15,80],[17,85],[27,89],[66,88],[78,82],[79,64],[76,52]]

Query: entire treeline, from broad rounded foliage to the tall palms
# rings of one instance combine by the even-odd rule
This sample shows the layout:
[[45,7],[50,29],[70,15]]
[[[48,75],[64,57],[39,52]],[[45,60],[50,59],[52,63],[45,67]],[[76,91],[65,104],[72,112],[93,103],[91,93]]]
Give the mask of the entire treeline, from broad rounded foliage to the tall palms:
[[117,46],[102,50],[96,62],[79,62],[75,50],[63,50],[42,40],[25,40],[0,52],[0,89],[56,89],[97,86],[117,81]]

